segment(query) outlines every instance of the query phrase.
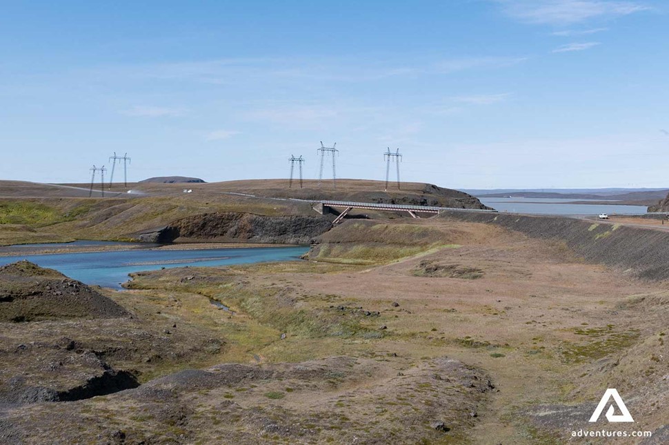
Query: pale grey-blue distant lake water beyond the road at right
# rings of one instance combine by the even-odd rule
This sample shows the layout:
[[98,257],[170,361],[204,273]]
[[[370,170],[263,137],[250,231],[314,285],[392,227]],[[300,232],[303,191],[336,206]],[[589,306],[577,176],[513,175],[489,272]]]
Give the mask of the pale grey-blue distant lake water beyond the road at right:
[[[645,206],[623,206],[611,204],[570,204],[574,201],[586,202],[587,199],[561,198],[479,198],[479,201],[499,212],[528,213],[532,215],[643,215],[648,211]],[[602,200],[597,200],[601,203]]]

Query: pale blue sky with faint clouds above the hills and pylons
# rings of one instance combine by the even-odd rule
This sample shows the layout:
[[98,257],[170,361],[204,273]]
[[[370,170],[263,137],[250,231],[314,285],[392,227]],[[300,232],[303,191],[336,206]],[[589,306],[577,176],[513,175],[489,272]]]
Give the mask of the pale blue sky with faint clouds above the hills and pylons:
[[[0,178],[669,187],[661,0],[3,1]],[[666,130],[664,132],[663,130]],[[328,170],[326,170],[328,172]]]

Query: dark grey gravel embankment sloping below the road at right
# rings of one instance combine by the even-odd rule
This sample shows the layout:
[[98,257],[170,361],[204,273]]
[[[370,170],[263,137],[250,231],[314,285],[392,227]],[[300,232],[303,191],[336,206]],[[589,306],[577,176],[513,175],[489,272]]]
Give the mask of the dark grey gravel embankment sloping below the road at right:
[[563,241],[588,262],[636,277],[669,279],[669,233],[568,217],[445,212],[443,218],[495,224],[532,238]]

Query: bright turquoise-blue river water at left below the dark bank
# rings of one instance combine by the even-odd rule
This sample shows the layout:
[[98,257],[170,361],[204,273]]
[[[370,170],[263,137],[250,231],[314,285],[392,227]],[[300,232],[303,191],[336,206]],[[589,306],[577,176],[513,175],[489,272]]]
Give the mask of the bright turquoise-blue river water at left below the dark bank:
[[[90,241],[77,241],[77,246]],[[95,241],[92,241],[95,242]],[[112,246],[117,243],[103,243]],[[121,244],[121,243],[119,243]],[[62,248],[63,244],[27,245],[24,248]],[[67,246],[67,244],[65,245]],[[251,248],[202,248],[194,250],[167,250],[137,248],[132,250],[107,250],[101,252],[54,253],[49,255],[14,255],[0,257],[0,266],[21,259],[41,267],[58,270],[70,278],[90,285],[120,289],[128,281],[128,274],[141,270],[156,270],[183,266],[229,266],[232,264],[260,263],[265,261],[290,261],[307,253],[307,246],[251,247]],[[144,247],[139,245],[140,247]],[[16,250],[19,246],[11,246]]]

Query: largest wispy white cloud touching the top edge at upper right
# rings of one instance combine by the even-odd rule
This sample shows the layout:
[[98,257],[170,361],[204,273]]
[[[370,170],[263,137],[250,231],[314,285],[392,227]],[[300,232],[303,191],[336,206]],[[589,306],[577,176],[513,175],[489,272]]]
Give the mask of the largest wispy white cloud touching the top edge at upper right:
[[610,0],[493,0],[510,17],[539,25],[564,26],[590,19],[622,17],[649,10],[637,1]]

